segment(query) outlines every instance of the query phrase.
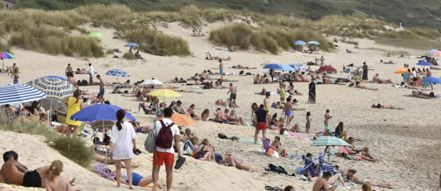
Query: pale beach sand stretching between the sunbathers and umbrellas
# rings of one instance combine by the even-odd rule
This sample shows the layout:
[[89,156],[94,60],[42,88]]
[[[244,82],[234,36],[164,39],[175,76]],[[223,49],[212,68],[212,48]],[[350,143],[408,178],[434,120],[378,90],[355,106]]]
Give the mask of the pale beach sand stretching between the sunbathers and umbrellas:
[[[119,39],[112,39],[113,29],[109,28],[93,28],[89,25],[84,26],[91,31],[97,31],[103,34],[102,43],[107,48],[120,48],[127,51],[123,45],[127,42]],[[306,63],[314,61],[321,55],[325,57],[325,63],[331,64],[339,71],[343,65],[354,63],[355,66],[362,66],[366,61],[368,66],[374,71],[369,71],[369,79],[374,73],[379,73],[381,79],[391,79],[394,83],[402,81],[402,77],[393,74],[393,71],[401,68],[403,64],[409,64],[410,67],[417,67],[418,59],[415,58],[397,58],[384,57],[386,50],[405,50],[412,56],[421,55],[424,51],[387,47],[375,44],[372,40],[355,39],[359,42],[361,49],[355,49],[354,45],[338,43],[340,46],[333,52],[319,52],[318,54],[304,54],[299,52],[281,52],[279,55],[261,53],[255,51],[227,52],[216,50],[207,37],[191,37],[191,28],[182,27],[179,23],[168,24],[168,27],[157,26],[159,30],[182,37],[187,40],[193,55],[188,57],[162,57],[153,56],[147,53],[141,53],[147,61],[127,61],[124,59],[112,58],[113,54],[109,54],[105,58],[72,58],[61,55],[48,55],[27,51],[19,48],[13,48],[16,55],[14,60],[5,60],[5,64],[10,66],[13,62],[20,67],[20,82],[46,76],[60,75],[64,76],[64,70],[67,63],[71,63],[73,69],[86,68],[85,63],[92,63],[95,71],[101,74],[104,80],[108,82],[116,81],[116,77],[104,75],[110,69],[123,69],[131,76],[128,78],[119,78],[119,81],[130,79],[132,82],[141,79],[154,77],[161,81],[168,81],[174,77],[188,78],[200,73],[203,70],[217,68],[217,61],[205,60],[205,51],[209,51],[213,55],[221,57],[231,56],[232,61],[225,61],[225,72],[239,73],[240,70],[228,69],[233,65],[243,65],[248,67],[258,67],[256,70],[247,70],[245,72],[263,73],[267,72],[261,68],[261,64],[268,59],[277,60],[280,63]],[[208,33],[210,30],[221,27],[220,23],[207,24],[202,31]],[[345,49],[351,49],[357,54],[345,53]],[[122,57],[122,53],[115,53]],[[394,55],[396,56],[396,55]],[[379,61],[392,60],[397,65],[379,64]],[[48,70],[50,68],[50,70]],[[314,70],[318,67],[312,67]],[[218,72],[218,70],[214,70]],[[440,72],[433,71],[434,76],[440,76]],[[333,77],[345,77],[343,73],[333,75]],[[213,76],[219,78],[220,76]],[[75,75],[75,79],[88,79],[88,75]],[[236,108],[238,116],[242,116],[246,122],[250,122],[250,106],[253,102],[261,104],[264,96],[255,95],[262,88],[267,91],[276,91],[276,84],[255,85],[251,76],[226,76],[227,79],[239,80],[233,82],[238,88]],[[6,85],[12,82],[12,79],[5,74],[0,74],[0,85]],[[189,86],[173,84],[180,89],[188,89]],[[224,85],[228,85],[225,82]],[[439,187],[438,178],[441,165],[438,158],[441,157],[440,138],[441,117],[439,116],[440,99],[418,99],[406,97],[403,95],[411,94],[411,90],[397,89],[392,85],[368,84],[369,87],[378,88],[378,91],[361,90],[349,88],[340,85],[317,85],[317,104],[306,104],[307,96],[295,96],[299,100],[300,107],[305,111],[294,111],[294,122],[299,123],[301,130],[305,128],[306,111],[312,114],[311,134],[300,134],[307,136],[312,140],[314,133],[323,130],[323,115],[326,109],[331,110],[333,119],[329,125],[334,129],[340,121],[344,122],[344,129],[348,131],[350,136],[361,137],[363,142],[356,142],[357,147],[368,146],[373,156],[379,159],[378,162],[371,163],[367,161],[349,161],[342,158],[331,157],[333,165],[344,168],[355,168],[357,173],[365,177],[379,182],[391,183],[399,191],[430,191]],[[300,93],[307,94],[308,83],[294,83],[295,89]],[[98,86],[82,88],[98,93]],[[200,114],[205,108],[210,110],[210,118],[213,118],[213,111],[218,108],[214,105],[217,99],[226,99],[228,90],[198,90],[203,94],[183,94],[180,97],[187,108],[190,104],[196,105],[196,113]],[[108,94],[106,98],[112,104],[131,109],[138,112],[138,102],[133,97],[123,97],[121,95]],[[435,85],[435,95],[441,94],[439,85]],[[166,102],[176,101],[176,98],[166,98]],[[271,101],[278,101],[279,96],[271,95]],[[405,110],[383,110],[371,109],[373,103],[391,104],[397,107],[404,107]],[[282,110],[272,109],[272,112],[278,116],[282,114]],[[154,118],[144,114],[134,114],[142,125],[151,125]],[[261,148],[261,145],[253,143],[221,140],[217,138],[218,133],[224,133],[227,136],[237,136],[245,139],[252,139],[254,129],[252,127],[224,125],[212,122],[200,122],[189,126],[196,132],[199,139],[208,138],[210,142],[216,145],[220,152],[230,151],[235,156],[244,160],[246,164],[256,167],[265,167],[267,164],[285,167],[291,174],[296,167],[302,167],[302,161],[287,158],[269,158],[259,155],[253,151]],[[267,136],[273,140],[278,135],[276,131],[269,131]],[[65,163],[65,172],[63,174],[69,178],[76,177],[76,186],[73,188],[86,191],[92,190],[117,190],[116,184],[100,178],[98,175],[87,169],[79,167],[69,161],[57,151],[51,149],[45,143],[41,142],[40,137],[34,137],[23,134],[15,134],[10,132],[1,132],[0,144],[1,152],[6,150],[16,150],[20,155],[20,161],[30,168],[43,165],[49,165],[52,160],[58,159]],[[146,135],[138,134],[137,146],[144,150],[144,140]],[[19,141],[17,143],[17,140]],[[288,148],[290,154],[306,154],[313,153],[317,156],[319,149],[324,147],[310,147],[312,141],[303,141],[298,139],[288,139],[282,137],[282,143]],[[332,148],[336,150],[337,148]],[[37,151],[37,152],[36,152]],[[136,156],[133,160],[140,167],[134,171],[142,175],[151,174],[152,154],[146,152]],[[98,163],[97,163],[98,164]],[[110,166],[114,169],[114,167]],[[123,170],[124,171],[124,170]],[[230,190],[246,190],[258,191],[264,190],[264,186],[284,187],[287,185],[294,186],[296,191],[308,191],[312,189],[313,183],[298,180],[298,176],[285,176],[278,174],[262,175],[259,173],[249,173],[237,170],[232,167],[223,167],[215,163],[201,162],[192,158],[187,158],[186,164],[179,170],[173,172],[172,189],[178,191],[230,191]],[[165,170],[161,169],[160,180],[165,182]],[[388,189],[374,188],[377,191],[385,191]],[[27,189],[25,189],[27,190]],[[145,190],[145,189],[137,189]],[[350,189],[338,188],[338,191],[360,191],[360,185],[350,184]]]

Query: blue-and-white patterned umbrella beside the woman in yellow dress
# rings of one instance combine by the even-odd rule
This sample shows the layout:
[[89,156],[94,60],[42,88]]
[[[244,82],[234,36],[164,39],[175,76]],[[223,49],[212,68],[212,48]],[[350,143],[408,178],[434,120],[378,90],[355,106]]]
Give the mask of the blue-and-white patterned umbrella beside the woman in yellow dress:
[[26,83],[44,92],[48,99],[61,100],[73,96],[73,85],[59,76],[45,76]]

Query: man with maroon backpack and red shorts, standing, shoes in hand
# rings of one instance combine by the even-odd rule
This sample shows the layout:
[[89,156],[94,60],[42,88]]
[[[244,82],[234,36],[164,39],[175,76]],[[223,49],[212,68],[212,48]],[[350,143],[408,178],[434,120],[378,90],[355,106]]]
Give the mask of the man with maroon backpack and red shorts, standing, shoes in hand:
[[[156,191],[158,186],[159,169],[162,165],[166,166],[167,173],[167,191],[172,189],[173,180],[173,159],[174,149],[172,142],[178,151],[179,157],[183,157],[180,149],[180,133],[179,128],[173,123],[172,117],[173,111],[170,107],[164,109],[164,119],[157,120],[155,123],[156,130],[156,151],[153,153],[153,170],[151,176],[153,177],[152,191]],[[163,129],[164,128],[164,129]],[[161,131],[163,130],[163,131]],[[169,137],[171,134],[171,137]]]

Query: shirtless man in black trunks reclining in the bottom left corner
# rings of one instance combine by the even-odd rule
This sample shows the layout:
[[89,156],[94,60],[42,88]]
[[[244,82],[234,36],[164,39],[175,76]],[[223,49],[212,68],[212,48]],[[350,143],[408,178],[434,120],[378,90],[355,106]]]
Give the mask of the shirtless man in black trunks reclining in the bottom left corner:
[[44,188],[45,182],[42,179],[48,175],[49,166],[31,171],[18,162],[18,154],[12,150],[3,153],[3,161],[0,169],[3,177],[1,182],[9,181],[25,187]]

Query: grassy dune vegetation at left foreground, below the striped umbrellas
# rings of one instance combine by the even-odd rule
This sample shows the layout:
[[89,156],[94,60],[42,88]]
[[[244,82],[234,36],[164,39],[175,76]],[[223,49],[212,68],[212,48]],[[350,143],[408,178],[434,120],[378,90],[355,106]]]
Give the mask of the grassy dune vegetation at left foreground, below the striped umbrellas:
[[61,137],[38,121],[16,122],[0,116],[0,130],[43,136],[46,138],[45,143],[82,167],[89,167],[94,160],[93,152],[86,146],[85,140]]

